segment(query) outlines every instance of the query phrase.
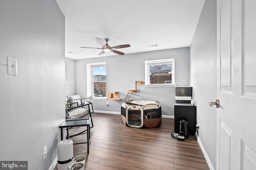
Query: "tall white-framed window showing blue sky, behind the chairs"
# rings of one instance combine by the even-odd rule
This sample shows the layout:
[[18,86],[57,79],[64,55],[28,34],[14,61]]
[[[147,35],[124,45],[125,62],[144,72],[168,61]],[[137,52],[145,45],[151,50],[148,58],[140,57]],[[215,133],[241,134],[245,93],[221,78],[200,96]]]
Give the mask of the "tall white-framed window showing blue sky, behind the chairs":
[[87,95],[106,99],[106,62],[87,64]]

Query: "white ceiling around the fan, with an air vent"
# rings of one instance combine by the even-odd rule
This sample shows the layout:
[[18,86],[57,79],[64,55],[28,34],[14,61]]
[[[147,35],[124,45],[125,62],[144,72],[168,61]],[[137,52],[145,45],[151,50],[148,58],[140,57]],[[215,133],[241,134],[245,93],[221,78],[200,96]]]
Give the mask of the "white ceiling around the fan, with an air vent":
[[71,59],[117,55],[80,48],[101,48],[95,38],[109,38],[110,46],[130,44],[117,49],[126,54],[189,47],[204,5],[204,0],[56,1],[66,18],[65,56]]

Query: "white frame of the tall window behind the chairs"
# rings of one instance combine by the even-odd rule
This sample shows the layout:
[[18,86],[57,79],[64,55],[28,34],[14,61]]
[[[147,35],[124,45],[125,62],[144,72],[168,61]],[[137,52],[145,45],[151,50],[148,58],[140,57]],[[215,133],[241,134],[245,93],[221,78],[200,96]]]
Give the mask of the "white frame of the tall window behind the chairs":
[[[107,89],[106,89],[106,96],[105,97],[96,97],[92,96],[94,94],[94,75],[93,75],[93,67],[94,66],[106,66],[106,62],[100,63],[88,63],[86,65],[87,69],[87,96],[92,97],[92,100],[107,100]],[[106,68],[106,76],[107,76],[107,68]],[[99,81],[99,82],[107,82],[106,81]]]

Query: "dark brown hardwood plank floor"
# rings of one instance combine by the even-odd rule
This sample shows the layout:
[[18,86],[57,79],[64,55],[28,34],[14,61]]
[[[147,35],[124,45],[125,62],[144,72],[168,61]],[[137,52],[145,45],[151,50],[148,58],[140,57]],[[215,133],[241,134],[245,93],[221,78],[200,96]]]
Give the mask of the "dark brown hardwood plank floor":
[[[86,156],[85,170],[208,170],[196,137],[185,141],[171,137],[174,119],[162,119],[160,127],[133,128],[120,115],[93,113],[90,153],[87,145],[74,145],[74,157]],[[84,127],[70,129],[70,135]],[[70,138],[86,140],[86,133]],[[54,168],[57,170],[57,166]]]

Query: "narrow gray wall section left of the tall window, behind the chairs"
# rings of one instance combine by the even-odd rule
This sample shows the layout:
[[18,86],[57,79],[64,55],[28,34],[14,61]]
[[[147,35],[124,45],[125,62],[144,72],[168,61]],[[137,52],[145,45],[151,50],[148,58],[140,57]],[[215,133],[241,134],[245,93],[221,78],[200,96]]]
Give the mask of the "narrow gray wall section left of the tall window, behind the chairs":
[[76,93],[76,69],[75,60],[65,58],[65,96],[74,95]]

